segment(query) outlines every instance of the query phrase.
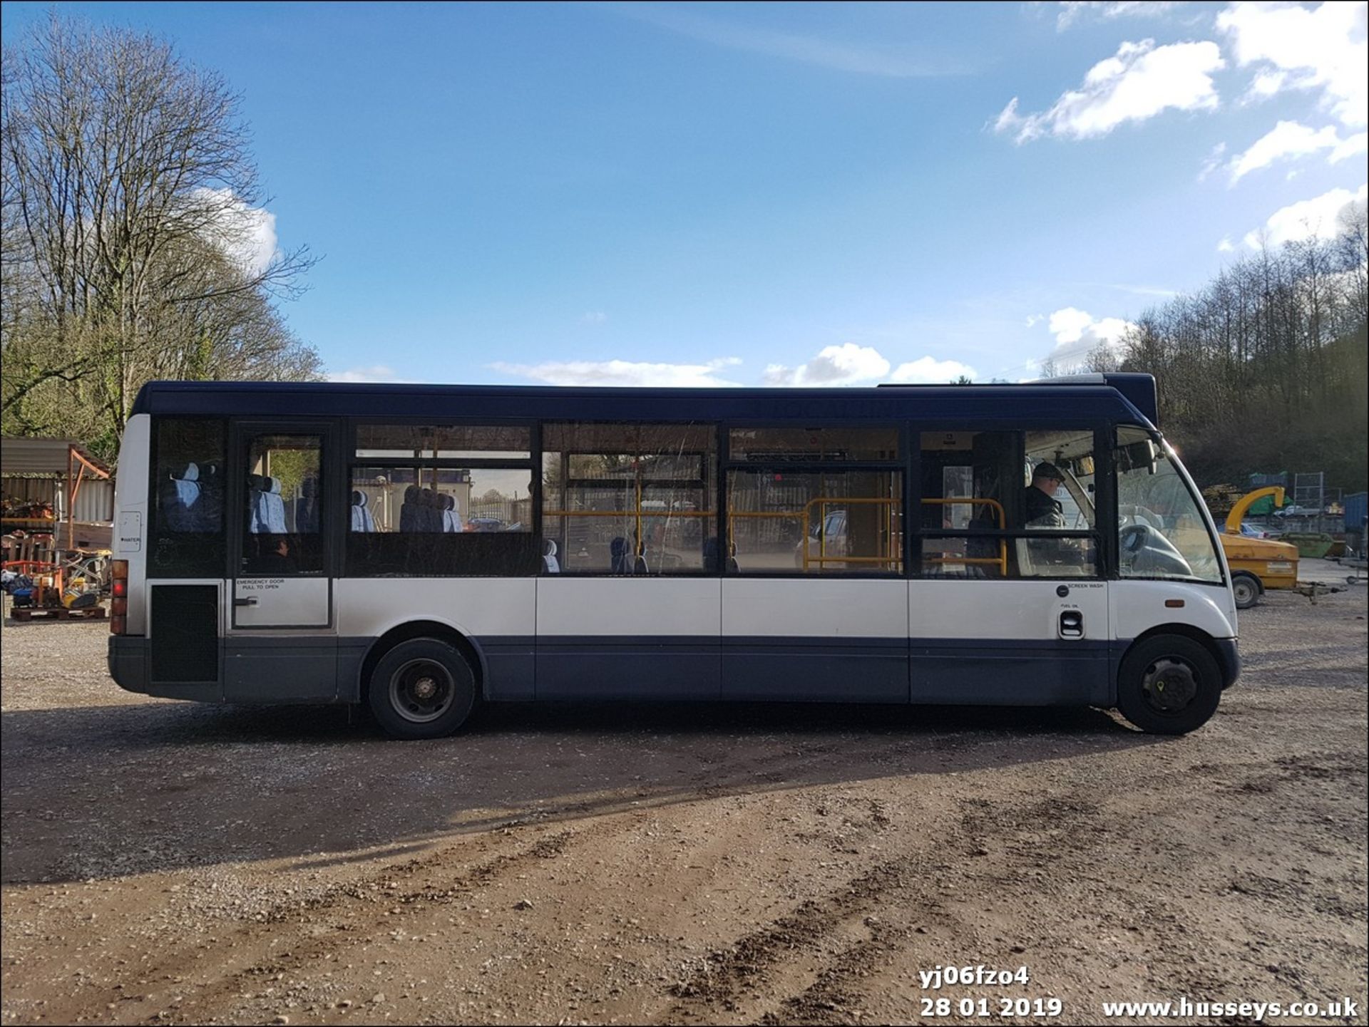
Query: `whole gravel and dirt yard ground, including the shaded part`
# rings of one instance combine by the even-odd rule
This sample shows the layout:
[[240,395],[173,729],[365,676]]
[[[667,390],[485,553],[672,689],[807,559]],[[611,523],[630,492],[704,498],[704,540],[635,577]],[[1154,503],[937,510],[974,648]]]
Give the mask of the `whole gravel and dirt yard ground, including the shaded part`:
[[[1188,996],[1364,1023],[1365,624],[1364,585],[1270,593],[1186,738],[576,706],[434,744],[131,696],[103,625],[5,625],[3,1016],[994,1023],[921,1000],[1055,997],[1072,1024]],[[1031,981],[920,986],[980,963]]]

